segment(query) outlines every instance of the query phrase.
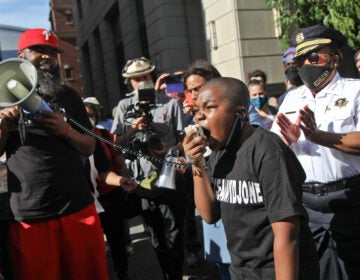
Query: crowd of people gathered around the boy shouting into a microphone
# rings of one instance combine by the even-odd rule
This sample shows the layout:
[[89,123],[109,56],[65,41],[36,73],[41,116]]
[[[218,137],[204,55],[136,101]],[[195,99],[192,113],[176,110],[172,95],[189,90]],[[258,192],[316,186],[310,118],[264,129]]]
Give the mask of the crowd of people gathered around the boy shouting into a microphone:
[[61,83],[55,34],[26,30],[18,57],[49,109],[0,110],[0,279],[108,279],[104,235],[129,279],[135,216],[166,280],[202,259],[223,280],[357,279],[360,80],[338,73],[345,43],[322,25],[295,31],[280,97],[260,69],[244,83],[195,60],[157,76],[133,58],[106,118]]

